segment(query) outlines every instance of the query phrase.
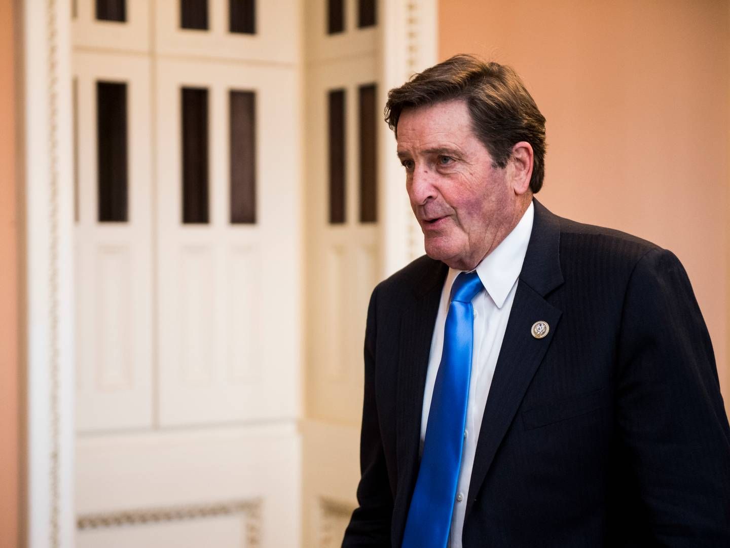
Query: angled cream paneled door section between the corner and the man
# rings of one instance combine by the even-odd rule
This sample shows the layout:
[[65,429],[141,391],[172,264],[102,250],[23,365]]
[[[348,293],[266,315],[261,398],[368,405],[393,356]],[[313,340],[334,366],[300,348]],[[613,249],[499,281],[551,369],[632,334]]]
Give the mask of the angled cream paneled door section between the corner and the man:
[[363,341],[383,278],[381,28],[374,1],[307,5],[304,541],[334,548],[356,501]]

